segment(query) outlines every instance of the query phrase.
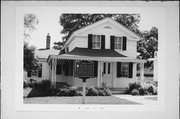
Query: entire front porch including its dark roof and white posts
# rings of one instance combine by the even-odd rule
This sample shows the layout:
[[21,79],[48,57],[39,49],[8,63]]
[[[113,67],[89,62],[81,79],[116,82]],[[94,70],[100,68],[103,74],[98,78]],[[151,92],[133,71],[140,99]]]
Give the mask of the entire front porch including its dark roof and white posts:
[[125,88],[129,82],[136,81],[137,64],[140,63],[140,79],[144,79],[146,60],[129,58],[111,49],[75,48],[71,52],[48,57],[49,79],[52,85],[65,82],[71,86],[82,87],[82,80],[74,76],[75,62],[90,61],[94,63],[94,77],[87,79],[88,87]]

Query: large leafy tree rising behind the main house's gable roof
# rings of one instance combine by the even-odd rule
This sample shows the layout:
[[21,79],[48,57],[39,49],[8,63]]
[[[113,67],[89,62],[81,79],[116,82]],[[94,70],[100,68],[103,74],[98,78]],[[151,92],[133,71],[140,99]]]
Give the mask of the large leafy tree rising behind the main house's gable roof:
[[54,49],[61,49],[69,36],[76,30],[97,22],[106,17],[110,17],[124,25],[126,28],[139,33],[139,14],[62,14],[59,23],[63,26],[61,33],[64,35],[62,42],[55,42]]

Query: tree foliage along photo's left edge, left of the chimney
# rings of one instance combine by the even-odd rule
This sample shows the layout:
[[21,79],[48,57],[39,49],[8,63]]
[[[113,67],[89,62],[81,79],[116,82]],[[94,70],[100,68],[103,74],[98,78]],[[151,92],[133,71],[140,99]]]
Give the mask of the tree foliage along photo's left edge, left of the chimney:
[[34,56],[35,47],[29,46],[27,39],[30,38],[30,33],[35,30],[38,24],[38,18],[35,14],[24,15],[24,70],[35,71],[38,69],[38,63]]

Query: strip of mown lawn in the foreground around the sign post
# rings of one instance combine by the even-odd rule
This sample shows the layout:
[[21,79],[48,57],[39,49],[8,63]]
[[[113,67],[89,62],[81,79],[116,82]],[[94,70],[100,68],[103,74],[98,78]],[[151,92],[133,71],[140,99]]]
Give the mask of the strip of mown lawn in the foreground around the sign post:
[[[139,104],[114,96],[86,96],[86,104]],[[82,96],[24,98],[25,104],[82,104]]]

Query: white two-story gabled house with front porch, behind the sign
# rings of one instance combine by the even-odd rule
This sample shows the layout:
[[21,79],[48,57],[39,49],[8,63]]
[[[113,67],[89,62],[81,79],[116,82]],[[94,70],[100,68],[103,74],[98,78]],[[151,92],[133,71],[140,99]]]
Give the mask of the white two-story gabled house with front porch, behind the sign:
[[82,87],[82,80],[74,76],[75,62],[94,62],[94,77],[87,86],[125,88],[137,80],[137,64],[141,64],[140,79],[144,78],[146,60],[136,58],[140,37],[111,18],[81,28],[71,34],[58,55],[49,55],[48,79],[53,85],[66,82]]

